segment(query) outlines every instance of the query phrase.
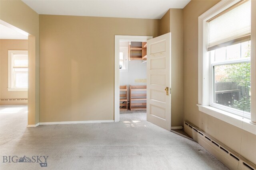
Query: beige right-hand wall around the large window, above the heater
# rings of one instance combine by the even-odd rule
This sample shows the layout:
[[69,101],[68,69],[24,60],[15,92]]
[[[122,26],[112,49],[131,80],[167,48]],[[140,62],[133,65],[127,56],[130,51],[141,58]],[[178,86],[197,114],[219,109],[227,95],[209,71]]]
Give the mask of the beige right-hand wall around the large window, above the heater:
[[256,164],[256,135],[198,111],[198,16],[218,1],[192,0],[183,10],[183,101],[188,120]]

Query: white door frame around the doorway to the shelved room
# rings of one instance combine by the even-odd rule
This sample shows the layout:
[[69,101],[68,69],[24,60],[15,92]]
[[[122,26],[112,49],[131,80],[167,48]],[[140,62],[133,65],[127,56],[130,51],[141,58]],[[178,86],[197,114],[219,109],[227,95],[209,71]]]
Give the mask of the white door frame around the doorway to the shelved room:
[[133,41],[133,42],[146,42],[148,39],[152,39],[153,36],[134,36],[134,35],[115,35],[114,46],[114,122],[118,122],[120,119],[120,69],[119,69],[119,47],[120,41]]

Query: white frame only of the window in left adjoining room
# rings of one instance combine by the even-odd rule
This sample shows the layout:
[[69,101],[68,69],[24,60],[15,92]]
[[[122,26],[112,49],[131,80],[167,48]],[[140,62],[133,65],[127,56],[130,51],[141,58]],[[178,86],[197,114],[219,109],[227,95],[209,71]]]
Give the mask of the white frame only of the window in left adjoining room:
[[13,68],[14,54],[28,55],[28,51],[27,50],[8,50],[8,91],[28,91],[28,88],[16,88],[13,86],[14,74],[13,74],[12,68]]

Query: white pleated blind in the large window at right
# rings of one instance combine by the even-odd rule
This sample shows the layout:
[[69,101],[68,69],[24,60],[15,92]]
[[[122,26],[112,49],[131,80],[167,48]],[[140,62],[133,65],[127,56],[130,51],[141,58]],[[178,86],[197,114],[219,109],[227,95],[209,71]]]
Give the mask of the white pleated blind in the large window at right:
[[251,2],[246,1],[235,8],[208,21],[208,51],[250,40]]

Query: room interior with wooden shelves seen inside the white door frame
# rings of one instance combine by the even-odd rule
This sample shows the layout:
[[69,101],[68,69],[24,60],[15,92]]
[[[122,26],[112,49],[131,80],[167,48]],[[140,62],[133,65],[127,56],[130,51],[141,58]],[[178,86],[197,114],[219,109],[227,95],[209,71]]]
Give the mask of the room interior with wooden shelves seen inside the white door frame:
[[120,120],[146,120],[146,42],[120,41]]

